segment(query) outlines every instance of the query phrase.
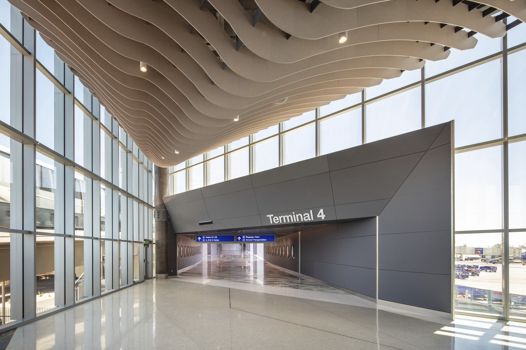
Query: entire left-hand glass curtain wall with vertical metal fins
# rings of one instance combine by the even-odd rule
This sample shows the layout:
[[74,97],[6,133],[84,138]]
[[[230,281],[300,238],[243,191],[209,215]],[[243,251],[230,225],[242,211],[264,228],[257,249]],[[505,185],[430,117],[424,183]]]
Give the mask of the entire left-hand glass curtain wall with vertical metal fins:
[[6,0],[0,24],[1,333],[152,276],[154,182],[153,164]]

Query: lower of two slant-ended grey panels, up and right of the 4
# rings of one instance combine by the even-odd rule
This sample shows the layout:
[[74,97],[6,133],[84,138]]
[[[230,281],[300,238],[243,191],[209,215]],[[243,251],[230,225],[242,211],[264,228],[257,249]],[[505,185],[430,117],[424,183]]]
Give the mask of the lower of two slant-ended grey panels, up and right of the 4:
[[334,204],[391,198],[423,154],[409,154],[331,172]]

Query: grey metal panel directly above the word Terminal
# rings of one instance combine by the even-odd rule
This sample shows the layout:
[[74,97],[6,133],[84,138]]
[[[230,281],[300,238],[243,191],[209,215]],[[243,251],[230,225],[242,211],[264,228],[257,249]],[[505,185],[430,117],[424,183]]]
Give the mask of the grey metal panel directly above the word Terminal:
[[329,173],[256,187],[254,192],[261,214],[334,204]]

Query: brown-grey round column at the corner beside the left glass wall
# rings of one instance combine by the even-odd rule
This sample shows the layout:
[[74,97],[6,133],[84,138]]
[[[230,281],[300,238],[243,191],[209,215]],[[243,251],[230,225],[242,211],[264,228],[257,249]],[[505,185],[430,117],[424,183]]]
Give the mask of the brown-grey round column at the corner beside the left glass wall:
[[168,196],[169,169],[155,166],[155,273],[168,278],[168,212],[163,197]]

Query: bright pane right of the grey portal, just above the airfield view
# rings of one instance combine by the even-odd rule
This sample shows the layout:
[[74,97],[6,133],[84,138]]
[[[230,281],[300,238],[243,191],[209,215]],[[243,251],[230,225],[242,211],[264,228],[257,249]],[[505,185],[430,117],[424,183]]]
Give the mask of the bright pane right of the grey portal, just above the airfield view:
[[502,146],[455,155],[455,230],[502,228]]

